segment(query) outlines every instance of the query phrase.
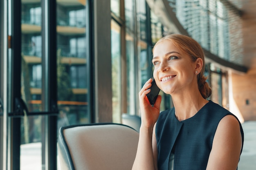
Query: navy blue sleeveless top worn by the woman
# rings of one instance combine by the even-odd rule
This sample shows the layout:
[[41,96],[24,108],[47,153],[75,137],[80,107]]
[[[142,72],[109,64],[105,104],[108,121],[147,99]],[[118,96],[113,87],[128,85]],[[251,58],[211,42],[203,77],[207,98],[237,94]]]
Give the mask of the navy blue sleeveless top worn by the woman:
[[[171,151],[174,153],[173,170],[205,170],[218,123],[226,115],[233,114],[212,101],[184,121],[177,120],[175,108],[161,112],[155,131],[158,170],[168,170]],[[243,144],[241,124],[240,131]]]

